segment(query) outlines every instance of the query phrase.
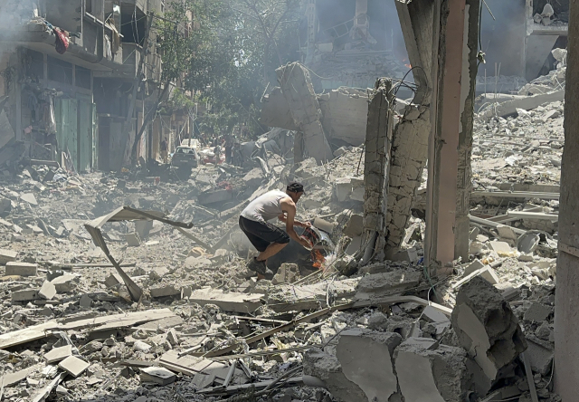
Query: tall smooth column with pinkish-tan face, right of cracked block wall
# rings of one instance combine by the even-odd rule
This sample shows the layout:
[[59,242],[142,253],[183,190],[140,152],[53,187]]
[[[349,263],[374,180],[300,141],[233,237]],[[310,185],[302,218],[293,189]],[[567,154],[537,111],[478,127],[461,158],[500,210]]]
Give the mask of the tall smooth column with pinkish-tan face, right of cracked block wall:
[[428,161],[428,232],[425,239],[426,263],[431,267],[454,259],[466,0],[444,0],[440,5],[440,23],[435,24],[435,30],[439,26],[440,33],[433,35],[440,41],[433,48],[438,48],[440,52],[438,55],[432,54],[434,105]]

